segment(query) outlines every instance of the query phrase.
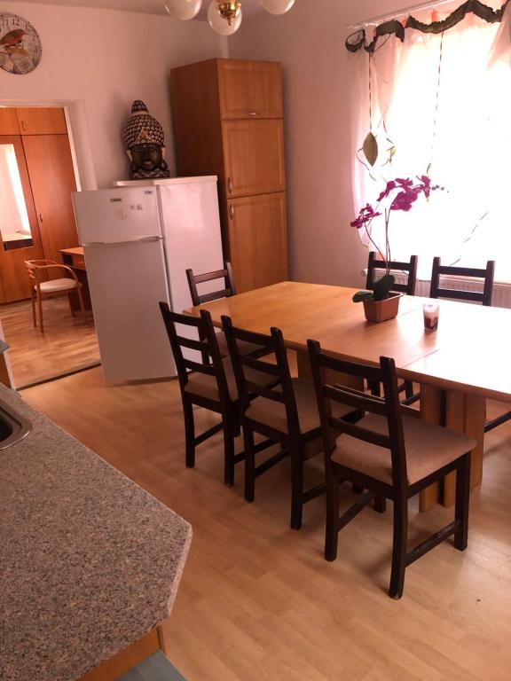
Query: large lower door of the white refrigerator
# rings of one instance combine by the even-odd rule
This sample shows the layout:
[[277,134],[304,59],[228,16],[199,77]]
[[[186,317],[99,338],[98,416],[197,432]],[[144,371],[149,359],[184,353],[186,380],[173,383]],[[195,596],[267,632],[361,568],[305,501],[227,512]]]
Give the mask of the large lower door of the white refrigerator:
[[159,301],[169,302],[161,239],[84,247],[107,381],[173,376]]

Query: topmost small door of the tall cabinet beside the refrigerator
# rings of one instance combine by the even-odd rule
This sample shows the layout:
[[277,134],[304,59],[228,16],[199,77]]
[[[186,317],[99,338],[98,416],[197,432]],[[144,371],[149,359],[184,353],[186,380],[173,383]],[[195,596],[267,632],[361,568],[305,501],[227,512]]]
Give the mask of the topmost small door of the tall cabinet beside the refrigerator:
[[275,61],[218,59],[222,118],[282,118],[282,79]]

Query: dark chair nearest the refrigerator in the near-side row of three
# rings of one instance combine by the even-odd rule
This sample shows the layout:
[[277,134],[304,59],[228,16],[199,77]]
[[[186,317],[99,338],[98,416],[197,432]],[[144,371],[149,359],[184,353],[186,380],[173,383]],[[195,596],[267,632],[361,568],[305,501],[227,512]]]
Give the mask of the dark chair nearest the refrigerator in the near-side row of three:
[[[234,466],[243,454],[234,453],[234,439],[240,434],[238,390],[232,373],[231,360],[220,355],[216,333],[208,310],[200,310],[200,317],[171,312],[166,302],[160,302],[161,316],[169,335],[170,347],[176,362],[185,418],[185,462],[195,466],[195,448],[212,435],[224,431],[224,482],[234,484]],[[177,324],[193,327],[202,340],[185,338],[177,333]],[[186,359],[183,348],[198,350],[201,361]],[[253,380],[258,380],[255,377]],[[222,421],[195,435],[193,404],[220,414]]]

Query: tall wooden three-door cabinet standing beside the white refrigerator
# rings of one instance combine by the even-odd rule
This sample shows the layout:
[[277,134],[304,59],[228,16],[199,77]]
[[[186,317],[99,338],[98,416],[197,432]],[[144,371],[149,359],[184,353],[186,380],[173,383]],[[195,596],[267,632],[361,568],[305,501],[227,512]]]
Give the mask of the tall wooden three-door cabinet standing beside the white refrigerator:
[[216,175],[225,257],[241,293],[288,278],[280,65],[209,59],[172,69],[179,175]]

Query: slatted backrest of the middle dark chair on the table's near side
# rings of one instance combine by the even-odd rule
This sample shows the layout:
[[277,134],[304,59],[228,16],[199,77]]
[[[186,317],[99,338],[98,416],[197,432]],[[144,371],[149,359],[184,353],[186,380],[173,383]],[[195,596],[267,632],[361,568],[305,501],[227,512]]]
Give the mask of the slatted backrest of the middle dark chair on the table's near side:
[[[295,390],[287,362],[287,350],[280,329],[271,328],[270,335],[252,333],[232,325],[231,317],[222,317],[222,327],[231,354],[232,369],[240,395],[240,407],[247,409],[251,395],[264,397],[274,403],[284,404],[287,416],[288,434],[300,434],[298,411],[296,409]],[[255,343],[263,348],[267,356],[275,358],[275,362],[264,361],[253,356],[241,355],[239,341]],[[249,370],[249,371],[248,371]],[[254,372],[259,372],[261,377],[270,376],[275,380],[273,387],[266,387],[255,382]]]

